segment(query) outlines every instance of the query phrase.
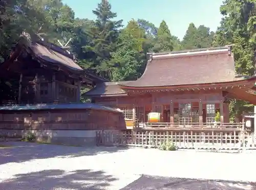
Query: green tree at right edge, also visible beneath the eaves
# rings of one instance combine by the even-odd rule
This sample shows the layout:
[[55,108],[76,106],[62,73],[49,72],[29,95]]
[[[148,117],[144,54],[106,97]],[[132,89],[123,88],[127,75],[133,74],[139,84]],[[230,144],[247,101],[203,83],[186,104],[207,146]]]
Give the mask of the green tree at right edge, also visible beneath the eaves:
[[[232,44],[236,71],[242,75],[254,74],[255,51],[255,3],[254,0],[226,0],[220,8],[224,18],[218,28],[214,45]],[[241,100],[230,102],[230,115],[235,118],[243,111],[252,111],[252,104]]]

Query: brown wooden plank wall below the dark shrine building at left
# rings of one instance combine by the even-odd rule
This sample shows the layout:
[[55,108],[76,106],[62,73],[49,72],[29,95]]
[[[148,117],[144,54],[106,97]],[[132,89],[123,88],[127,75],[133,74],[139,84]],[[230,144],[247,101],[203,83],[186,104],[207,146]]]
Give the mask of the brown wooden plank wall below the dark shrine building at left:
[[103,110],[1,111],[0,129],[126,129],[122,113]]

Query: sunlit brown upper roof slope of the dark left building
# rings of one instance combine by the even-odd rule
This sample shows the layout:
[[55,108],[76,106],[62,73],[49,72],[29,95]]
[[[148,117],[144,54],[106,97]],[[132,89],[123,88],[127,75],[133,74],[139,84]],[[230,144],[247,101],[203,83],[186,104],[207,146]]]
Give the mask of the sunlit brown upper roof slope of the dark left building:
[[73,60],[73,55],[69,55],[68,52],[62,50],[56,45],[50,43],[49,45],[32,43],[29,47],[35,54],[36,58],[57,65],[61,64],[72,70],[83,71],[83,69]]

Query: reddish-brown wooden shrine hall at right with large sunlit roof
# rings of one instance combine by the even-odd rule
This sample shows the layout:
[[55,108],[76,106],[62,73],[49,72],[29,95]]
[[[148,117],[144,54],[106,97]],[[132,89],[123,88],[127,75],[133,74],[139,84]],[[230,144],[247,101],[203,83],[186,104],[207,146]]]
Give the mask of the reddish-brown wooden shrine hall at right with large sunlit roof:
[[[231,47],[148,53],[143,75],[135,81],[96,85],[85,95],[123,111],[126,126],[148,126],[148,114],[160,113],[150,126],[177,128],[229,123],[229,99],[256,105],[255,76],[236,74]],[[232,124],[234,125],[234,124]]]

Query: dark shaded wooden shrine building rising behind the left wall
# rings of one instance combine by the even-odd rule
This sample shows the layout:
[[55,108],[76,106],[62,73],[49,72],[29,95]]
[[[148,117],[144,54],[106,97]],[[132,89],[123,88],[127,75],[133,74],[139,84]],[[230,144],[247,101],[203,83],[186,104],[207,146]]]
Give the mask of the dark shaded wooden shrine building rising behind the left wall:
[[108,80],[84,71],[65,49],[23,36],[0,65],[0,104],[80,102],[80,87],[93,88]]

